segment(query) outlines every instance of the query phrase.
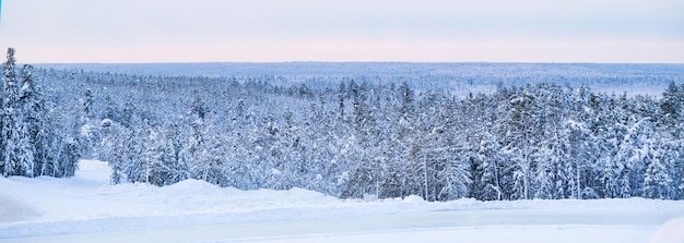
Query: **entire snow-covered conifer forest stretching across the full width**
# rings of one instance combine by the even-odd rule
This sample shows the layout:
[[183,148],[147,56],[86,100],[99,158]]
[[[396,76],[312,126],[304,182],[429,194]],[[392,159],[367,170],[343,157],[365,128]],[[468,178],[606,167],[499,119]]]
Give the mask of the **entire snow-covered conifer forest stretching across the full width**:
[[111,183],[160,186],[684,198],[682,72],[577,74],[587,84],[664,80],[658,97],[543,80],[459,95],[421,85],[439,75],[135,75],[19,69],[13,54],[3,65],[4,177],[69,177],[85,158],[108,161]]

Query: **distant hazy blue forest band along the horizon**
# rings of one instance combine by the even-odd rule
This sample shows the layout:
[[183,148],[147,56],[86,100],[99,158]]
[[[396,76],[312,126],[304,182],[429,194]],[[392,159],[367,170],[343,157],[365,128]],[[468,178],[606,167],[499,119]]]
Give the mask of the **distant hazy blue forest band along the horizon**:
[[[142,76],[258,78],[275,86],[306,83],[314,89],[337,88],[340,82],[376,85],[408,83],[418,90],[448,92],[460,97],[491,94],[498,86],[550,83],[586,85],[593,90],[659,96],[671,83],[684,83],[684,64],[605,63],[412,63],[412,62],[276,62],[276,63],[135,63],[39,64],[39,68]],[[647,88],[647,89],[645,89]]]

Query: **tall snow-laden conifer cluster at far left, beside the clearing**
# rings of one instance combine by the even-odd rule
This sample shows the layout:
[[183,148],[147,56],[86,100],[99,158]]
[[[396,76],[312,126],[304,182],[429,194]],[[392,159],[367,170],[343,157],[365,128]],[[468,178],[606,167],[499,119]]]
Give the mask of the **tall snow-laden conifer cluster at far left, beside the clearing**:
[[75,134],[55,121],[32,65],[17,66],[9,48],[2,65],[0,173],[3,177],[72,177],[78,167]]

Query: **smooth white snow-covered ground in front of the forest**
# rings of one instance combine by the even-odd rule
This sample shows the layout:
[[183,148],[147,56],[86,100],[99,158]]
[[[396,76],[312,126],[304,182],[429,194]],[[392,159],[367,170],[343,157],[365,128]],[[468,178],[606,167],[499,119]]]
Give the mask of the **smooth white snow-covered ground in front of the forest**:
[[106,163],[80,168],[72,179],[0,178],[0,242],[684,241],[684,220],[675,219],[684,202],[341,201],[194,180],[109,185]]

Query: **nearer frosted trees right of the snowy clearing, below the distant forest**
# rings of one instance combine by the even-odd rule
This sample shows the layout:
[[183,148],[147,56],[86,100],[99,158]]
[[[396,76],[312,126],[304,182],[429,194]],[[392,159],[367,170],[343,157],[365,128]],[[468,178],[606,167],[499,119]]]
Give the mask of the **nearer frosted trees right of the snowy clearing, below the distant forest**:
[[197,179],[428,201],[679,199],[683,93],[674,83],[660,99],[541,83],[459,98],[408,83],[220,82],[186,93],[179,112],[110,102],[85,126],[113,183]]

